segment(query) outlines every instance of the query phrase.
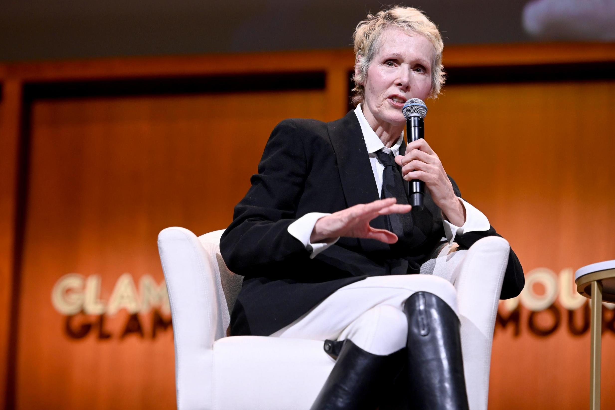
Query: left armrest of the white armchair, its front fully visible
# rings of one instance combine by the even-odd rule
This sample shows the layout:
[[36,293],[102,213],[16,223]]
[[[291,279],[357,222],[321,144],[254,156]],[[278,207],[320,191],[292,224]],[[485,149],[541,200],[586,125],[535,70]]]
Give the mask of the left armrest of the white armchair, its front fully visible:
[[213,342],[224,337],[215,261],[196,235],[180,227],[160,232],[158,250],[173,320],[177,408],[204,408],[213,392]]

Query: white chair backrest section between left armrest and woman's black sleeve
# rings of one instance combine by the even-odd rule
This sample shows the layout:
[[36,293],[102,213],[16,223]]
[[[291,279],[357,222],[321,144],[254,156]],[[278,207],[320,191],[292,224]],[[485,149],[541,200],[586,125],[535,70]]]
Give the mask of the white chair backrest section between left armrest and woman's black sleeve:
[[[211,257],[212,261],[216,261],[215,267],[217,267],[215,273],[216,286],[218,288],[218,296],[226,301],[228,312],[223,312],[224,326],[228,326],[230,322],[230,312],[232,312],[237,295],[241,290],[241,285],[244,282],[244,277],[231,272],[224,259],[220,254],[220,237],[224,229],[220,231],[208,232],[207,234],[200,235],[199,242],[203,245],[205,252]],[[226,313],[226,315],[224,315]],[[228,317],[228,321],[226,318]]]

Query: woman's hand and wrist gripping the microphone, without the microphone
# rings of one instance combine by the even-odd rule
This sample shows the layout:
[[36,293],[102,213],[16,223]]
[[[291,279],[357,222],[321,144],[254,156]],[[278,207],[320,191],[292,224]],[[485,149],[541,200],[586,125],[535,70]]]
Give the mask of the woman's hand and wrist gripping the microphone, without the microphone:
[[457,199],[442,162],[423,138],[411,141],[404,156],[395,157],[397,165],[402,167],[402,177],[406,181],[420,179],[429,188],[431,197],[448,220],[462,226],[465,221],[464,207]]

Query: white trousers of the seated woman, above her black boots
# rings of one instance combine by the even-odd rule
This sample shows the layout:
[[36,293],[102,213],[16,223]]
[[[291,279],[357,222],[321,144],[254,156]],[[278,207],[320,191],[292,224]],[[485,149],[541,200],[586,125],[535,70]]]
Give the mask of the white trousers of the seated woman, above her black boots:
[[351,339],[375,355],[389,355],[406,346],[408,321],[403,304],[413,293],[426,291],[458,313],[456,291],[434,275],[371,276],[339,288],[274,337]]

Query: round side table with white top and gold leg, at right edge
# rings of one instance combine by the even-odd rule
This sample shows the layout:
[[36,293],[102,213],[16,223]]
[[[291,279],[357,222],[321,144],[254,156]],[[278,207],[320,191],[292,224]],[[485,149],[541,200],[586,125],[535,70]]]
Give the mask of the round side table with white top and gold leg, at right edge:
[[602,301],[615,302],[615,260],[593,263],[574,274],[577,292],[591,299],[590,320],[590,410],[600,409],[600,350],[602,336]]

